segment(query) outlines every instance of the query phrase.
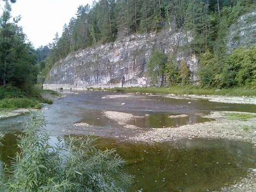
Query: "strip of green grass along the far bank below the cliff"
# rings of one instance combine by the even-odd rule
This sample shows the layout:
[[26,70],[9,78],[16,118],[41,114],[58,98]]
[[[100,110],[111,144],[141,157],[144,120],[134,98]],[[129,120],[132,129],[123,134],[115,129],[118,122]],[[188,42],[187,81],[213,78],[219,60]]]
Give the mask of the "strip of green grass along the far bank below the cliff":
[[225,95],[225,96],[256,96],[255,90],[245,88],[229,89],[206,89],[199,86],[170,86],[170,87],[130,87],[130,88],[109,88],[110,92],[129,92],[129,93],[154,93],[154,94],[175,94],[175,95]]

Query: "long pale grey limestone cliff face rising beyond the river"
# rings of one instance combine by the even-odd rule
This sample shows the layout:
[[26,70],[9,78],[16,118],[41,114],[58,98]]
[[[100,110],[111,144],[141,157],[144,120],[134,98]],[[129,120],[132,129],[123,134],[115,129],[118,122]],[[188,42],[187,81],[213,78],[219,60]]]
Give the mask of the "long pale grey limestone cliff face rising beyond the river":
[[[147,63],[152,49],[162,49],[166,54],[191,38],[171,30],[161,33],[134,34],[118,38],[115,42],[95,45],[73,52],[59,61],[45,79],[44,88],[77,88],[147,86]],[[185,60],[196,79],[198,60],[193,54],[179,52],[177,60]]]

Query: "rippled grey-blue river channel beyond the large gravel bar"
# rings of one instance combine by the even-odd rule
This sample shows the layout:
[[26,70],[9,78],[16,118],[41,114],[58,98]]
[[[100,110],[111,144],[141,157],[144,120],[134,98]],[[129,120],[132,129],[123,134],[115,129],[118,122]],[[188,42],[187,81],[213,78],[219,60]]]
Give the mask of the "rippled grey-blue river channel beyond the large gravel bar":
[[[109,99],[108,95],[121,95]],[[102,99],[106,97],[106,99]],[[125,106],[121,104],[125,102]],[[191,103],[188,103],[191,102]],[[211,111],[247,111],[255,112],[255,105],[222,104],[206,100],[170,99],[161,96],[148,95],[122,95],[121,93],[108,92],[77,92],[56,100],[52,106],[44,110],[47,119],[47,129],[52,135],[63,134],[94,134],[97,136],[134,136],[136,131],[131,131],[103,115],[104,111],[119,111],[132,115],[149,117],[134,119],[129,122],[138,127],[167,127],[184,124],[195,124],[209,121],[200,117]],[[188,115],[187,118],[166,118],[167,115]],[[158,122],[157,122],[158,121]],[[161,122],[160,122],[161,121]],[[91,127],[72,127],[76,123],[86,123]],[[138,122],[138,123],[136,123]],[[149,125],[148,125],[149,124]]]

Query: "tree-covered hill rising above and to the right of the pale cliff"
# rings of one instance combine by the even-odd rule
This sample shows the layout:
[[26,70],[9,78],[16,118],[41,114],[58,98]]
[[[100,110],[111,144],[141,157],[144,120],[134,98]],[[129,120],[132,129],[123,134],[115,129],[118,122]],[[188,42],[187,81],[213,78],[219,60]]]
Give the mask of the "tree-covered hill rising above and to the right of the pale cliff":
[[[236,63],[239,66],[232,66],[234,63],[231,65],[233,61],[230,60],[232,58],[243,60],[243,58],[237,58],[238,55],[230,58],[230,53],[238,45],[246,45],[248,48],[255,44],[256,37],[252,33],[254,29],[250,29],[250,36],[246,36],[246,42],[244,42],[241,39],[244,36],[241,36],[241,31],[239,32],[243,26],[237,28],[239,19],[246,13],[249,16],[243,21],[245,22],[244,25],[255,22],[256,15],[253,12],[255,8],[255,0],[94,1],[92,6],[79,6],[76,13],[77,17],[70,19],[70,22],[65,24],[61,37],[59,38],[56,34],[54,42],[51,44],[51,55],[47,58],[45,68],[42,70],[42,77],[47,76],[54,63],[65,58],[70,52],[115,42],[118,38],[122,39],[134,33],[159,33],[170,29],[186,34],[188,44],[186,44],[186,49],[184,46],[177,44],[171,54],[168,53],[166,58],[163,56],[164,67],[163,70],[161,69],[161,72],[163,71],[163,76],[161,76],[163,81],[174,84],[189,83],[187,77],[189,72],[186,72],[185,75],[182,74],[180,72],[181,61],[177,63],[175,59],[179,52],[187,52],[188,54],[196,54],[199,58],[200,68],[204,69],[200,70],[198,74],[202,85],[217,87],[251,86],[254,84],[252,74],[255,73],[253,72],[255,68],[252,68],[250,72],[240,72],[241,74],[247,73],[246,77],[241,74],[237,75],[238,70],[243,68],[243,63]],[[233,25],[236,26],[232,27]],[[234,33],[232,33],[232,30],[234,30]],[[243,51],[246,50],[246,47],[244,47]],[[248,54],[252,55],[254,52]],[[155,56],[157,57],[157,54]],[[152,60],[154,58],[151,58]],[[166,63],[169,63],[169,66]],[[170,66],[170,63],[172,63],[172,66]],[[245,65],[249,64],[245,63]],[[206,71],[207,74],[204,74]],[[232,71],[232,74],[229,72],[227,74],[227,71]],[[159,71],[157,73],[159,74]],[[154,76],[154,72],[150,76]],[[157,75],[158,83],[159,77]],[[225,79],[227,77],[229,79]],[[161,84],[163,84],[163,81]]]

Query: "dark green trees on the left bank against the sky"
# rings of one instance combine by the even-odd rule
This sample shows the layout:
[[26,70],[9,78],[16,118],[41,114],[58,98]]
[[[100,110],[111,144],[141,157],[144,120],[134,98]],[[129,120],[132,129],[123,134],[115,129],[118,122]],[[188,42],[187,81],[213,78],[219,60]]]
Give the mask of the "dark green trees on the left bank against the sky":
[[36,83],[36,54],[18,25],[20,17],[12,20],[11,11],[6,1],[0,17],[0,86],[29,88]]

